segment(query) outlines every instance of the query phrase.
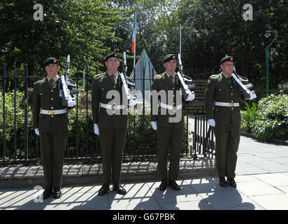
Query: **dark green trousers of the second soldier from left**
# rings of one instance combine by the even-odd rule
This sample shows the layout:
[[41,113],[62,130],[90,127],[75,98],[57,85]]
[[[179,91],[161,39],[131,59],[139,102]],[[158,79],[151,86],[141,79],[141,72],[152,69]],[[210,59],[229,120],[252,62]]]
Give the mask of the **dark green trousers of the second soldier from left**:
[[[127,129],[99,128],[103,183],[119,182]],[[112,172],[111,172],[112,171]]]

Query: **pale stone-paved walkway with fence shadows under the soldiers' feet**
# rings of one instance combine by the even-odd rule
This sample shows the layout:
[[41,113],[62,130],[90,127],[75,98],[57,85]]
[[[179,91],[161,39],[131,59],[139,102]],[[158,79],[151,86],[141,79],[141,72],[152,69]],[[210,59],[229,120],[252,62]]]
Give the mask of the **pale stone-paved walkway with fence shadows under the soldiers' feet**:
[[[288,209],[288,146],[241,137],[237,188],[221,188],[217,176],[177,181],[180,191],[159,191],[157,181],[123,183],[127,195],[98,196],[101,184],[64,186],[62,198],[41,202],[43,190],[0,189],[0,209],[209,210]],[[40,201],[40,202],[39,202]]]

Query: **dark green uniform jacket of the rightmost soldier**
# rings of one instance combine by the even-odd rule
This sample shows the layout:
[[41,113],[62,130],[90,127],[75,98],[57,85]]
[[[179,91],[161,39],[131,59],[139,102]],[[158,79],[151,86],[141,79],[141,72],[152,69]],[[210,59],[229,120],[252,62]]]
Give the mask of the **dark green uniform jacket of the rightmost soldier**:
[[210,76],[205,92],[207,119],[215,119],[216,124],[240,125],[240,106],[214,106],[214,102],[239,103],[240,88],[235,87],[231,78],[223,73]]

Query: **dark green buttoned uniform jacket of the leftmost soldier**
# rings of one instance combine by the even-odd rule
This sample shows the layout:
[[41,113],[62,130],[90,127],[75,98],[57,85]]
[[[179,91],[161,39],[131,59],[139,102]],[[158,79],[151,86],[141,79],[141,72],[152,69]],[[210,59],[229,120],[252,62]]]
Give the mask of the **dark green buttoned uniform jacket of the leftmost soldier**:
[[54,116],[40,113],[43,110],[61,110],[67,109],[62,105],[62,97],[59,97],[59,82],[51,88],[47,78],[38,80],[34,83],[33,92],[33,122],[34,129],[38,128],[40,132],[68,132],[71,130],[67,113],[57,114]]

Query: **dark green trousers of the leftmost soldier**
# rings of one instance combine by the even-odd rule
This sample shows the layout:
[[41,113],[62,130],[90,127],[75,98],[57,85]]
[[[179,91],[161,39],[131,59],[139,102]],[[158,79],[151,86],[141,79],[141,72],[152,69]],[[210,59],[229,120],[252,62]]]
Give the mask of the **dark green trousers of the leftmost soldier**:
[[40,153],[46,186],[60,188],[67,132],[39,132]]

